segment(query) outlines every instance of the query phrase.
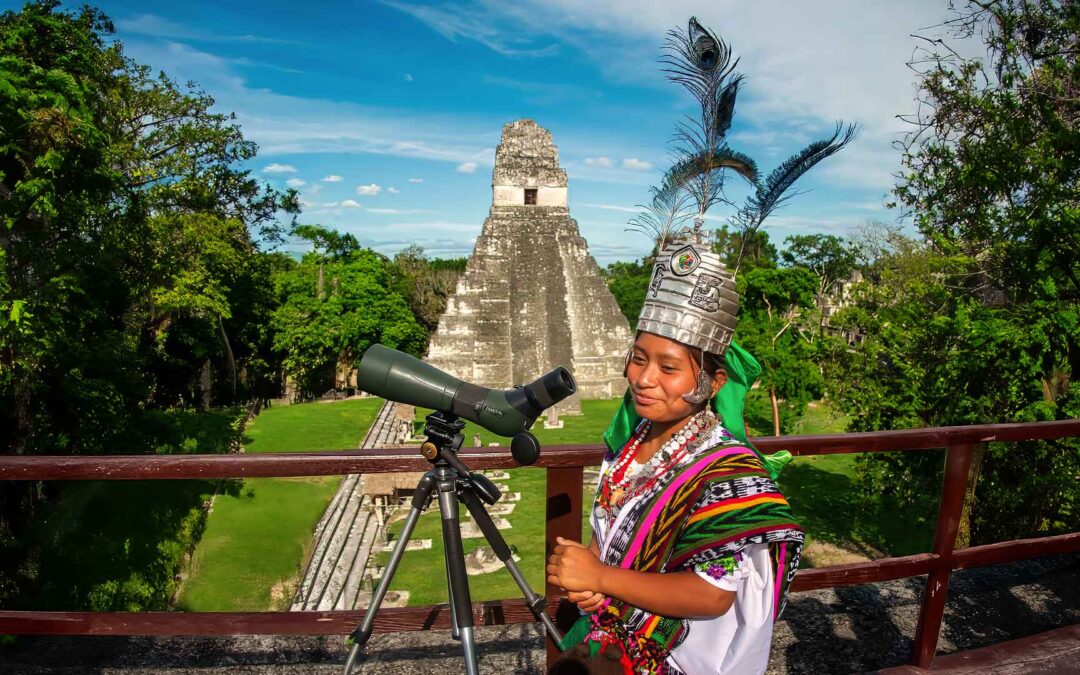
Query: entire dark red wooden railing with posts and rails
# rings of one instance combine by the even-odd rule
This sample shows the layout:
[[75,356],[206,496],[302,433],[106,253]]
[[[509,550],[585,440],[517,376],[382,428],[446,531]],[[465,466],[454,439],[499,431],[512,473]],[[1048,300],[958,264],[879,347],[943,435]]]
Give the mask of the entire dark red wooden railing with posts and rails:
[[[794,455],[909,451],[946,448],[941,507],[929,553],[807,569],[793,592],[888,581],[927,575],[912,663],[929,667],[937,647],[949,575],[955,569],[1080,552],[1080,532],[955,549],[964,490],[976,444],[1080,436],[1080,420],[1022,424],[943,427],[905,431],[755,438],[761,450]],[[545,448],[536,467],[548,472],[548,550],[555,537],[581,539],[583,469],[600,463],[599,445]],[[472,469],[515,467],[505,448],[469,448],[461,458]],[[361,449],[291,455],[184,455],[27,457],[0,456],[0,480],[174,480],[308,476],[424,471],[430,465],[401,449]],[[549,606],[557,592],[548,588]],[[534,621],[519,598],[474,603],[477,625]],[[357,611],[274,612],[89,612],[0,610],[0,633],[53,635],[346,635],[363,618]],[[379,611],[379,632],[448,627],[448,607],[405,607]],[[549,646],[549,657],[552,654]]]

